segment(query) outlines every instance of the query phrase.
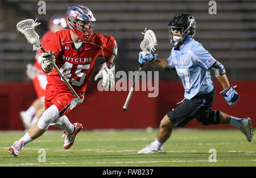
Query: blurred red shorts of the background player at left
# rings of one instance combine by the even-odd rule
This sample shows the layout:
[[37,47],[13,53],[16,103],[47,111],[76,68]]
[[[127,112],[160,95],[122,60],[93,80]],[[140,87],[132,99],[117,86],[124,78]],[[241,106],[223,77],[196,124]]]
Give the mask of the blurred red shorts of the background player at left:
[[32,81],[38,98],[44,97],[46,95],[47,75],[37,74]]

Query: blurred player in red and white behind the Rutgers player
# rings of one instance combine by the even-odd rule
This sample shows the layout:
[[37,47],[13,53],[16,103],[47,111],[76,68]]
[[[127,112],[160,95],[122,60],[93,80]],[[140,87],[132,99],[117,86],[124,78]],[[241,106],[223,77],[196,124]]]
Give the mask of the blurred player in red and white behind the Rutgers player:
[[[48,31],[42,36],[40,40],[41,44],[44,46],[46,44],[46,39],[51,35],[67,27],[65,18],[62,16],[52,16],[48,22]],[[19,117],[22,119],[23,126],[27,130],[34,123],[38,122],[38,119],[44,112],[44,96],[46,94],[46,84],[47,84],[47,73],[44,73],[41,68],[43,51],[38,49],[35,56],[35,64],[27,65],[27,77],[30,78],[34,84],[36,90],[37,99],[32,102],[32,105],[28,107],[26,111],[20,111]]]

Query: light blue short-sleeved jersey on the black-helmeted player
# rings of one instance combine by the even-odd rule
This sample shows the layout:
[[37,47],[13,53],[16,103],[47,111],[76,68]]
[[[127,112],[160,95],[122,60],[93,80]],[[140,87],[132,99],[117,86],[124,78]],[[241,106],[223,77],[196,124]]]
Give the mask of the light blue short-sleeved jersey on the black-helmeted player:
[[185,89],[184,97],[207,94],[214,88],[208,70],[216,59],[196,40],[188,38],[180,50],[172,48],[168,63],[176,69]]

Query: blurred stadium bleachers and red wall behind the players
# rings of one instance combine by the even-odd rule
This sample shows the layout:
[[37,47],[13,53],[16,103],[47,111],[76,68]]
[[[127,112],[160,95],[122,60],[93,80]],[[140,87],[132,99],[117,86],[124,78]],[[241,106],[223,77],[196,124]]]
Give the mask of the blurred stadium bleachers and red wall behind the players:
[[[36,98],[32,82],[26,77],[26,65],[34,64],[35,52],[24,36],[16,32],[16,23],[38,18],[36,27],[40,36],[47,31],[52,15],[64,15],[69,6],[85,5],[96,17],[95,32],[112,35],[118,43],[114,61],[117,71],[136,71],[139,44],[144,28],[155,32],[160,57],[168,57],[171,45],[168,23],[177,13],[190,13],[196,18],[198,40],[226,68],[232,85],[237,85],[240,100],[235,106],[226,104],[218,94],[222,88],[216,80],[216,102],[213,109],[237,117],[255,114],[256,90],[256,1],[217,2],[217,14],[208,13],[209,1],[150,1],[150,0],[52,0],[46,2],[46,14],[39,15],[36,0],[2,0],[0,2],[0,129],[22,130],[18,115]],[[126,113],[122,106],[128,92],[99,92],[93,81],[98,71],[97,60],[85,102],[68,114],[72,122],[84,123],[85,129],[125,129],[158,127],[160,119],[183,99],[183,86],[176,73],[165,72],[154,65],[145,65],[145,71],[159,70],[159,96],[148,98],[146,92],[134,92]],[[214,78],[214,77],[213,77]],[[118,78],[117,78],[118,80]],[[254,127],[255,127],[255,121]],[[187,127],[200,127],[192,121]],[[221,126],[208,126],[221,127]],[[53,128],[52,128],[53,129]]]

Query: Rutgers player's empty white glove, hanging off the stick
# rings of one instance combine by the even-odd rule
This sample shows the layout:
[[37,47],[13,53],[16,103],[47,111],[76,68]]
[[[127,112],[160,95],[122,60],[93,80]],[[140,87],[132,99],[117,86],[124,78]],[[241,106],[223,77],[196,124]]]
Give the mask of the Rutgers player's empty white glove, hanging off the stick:
[[113,63],[105,62],[101,65],[100,71],[95,76],[94,80],[102,77],[102,87],[111,89],[115,86],[114,70],[115,66]]

